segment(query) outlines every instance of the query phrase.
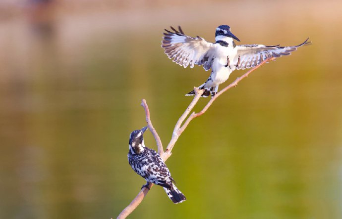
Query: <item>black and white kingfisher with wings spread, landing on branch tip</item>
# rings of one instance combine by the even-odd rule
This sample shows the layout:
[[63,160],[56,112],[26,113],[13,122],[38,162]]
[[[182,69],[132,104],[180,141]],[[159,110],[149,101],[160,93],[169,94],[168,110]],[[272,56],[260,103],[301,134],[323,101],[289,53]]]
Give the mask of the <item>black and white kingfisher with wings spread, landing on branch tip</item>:
[[[219,85],[227,81],[230,73],[235,69],[255,67],[267,58],[289,55],[298,47],[311,43],[308,42],[308,38],[302,44],[295,46],[236,45],[234,40],[240,40],[230,32],[228,25],[221,25],[216,28],[216,43],[213,44],[199,36],[186,36],[180,26],[178,26],[179,30],[173,27],[171,29],[173,32],[165,30],[162,47],[173,62],[184,68],[187,66],[193,68],[196,64],[203,65],[206,71],[212,69],[208,80],[199,86],[200,89],[205,89],[202,94],[204,97],[209,96],[210,93],[213,97]],[[185,95],[194,94],[192,90]]]

